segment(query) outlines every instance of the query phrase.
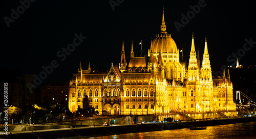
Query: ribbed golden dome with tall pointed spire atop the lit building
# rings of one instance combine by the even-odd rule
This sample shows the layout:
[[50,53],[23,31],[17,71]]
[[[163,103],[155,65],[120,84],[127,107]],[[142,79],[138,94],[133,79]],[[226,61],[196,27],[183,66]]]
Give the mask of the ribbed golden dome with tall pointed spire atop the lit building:
[[161,24],[161,32],[156,35],[156,38],[152,42],[153,53],[177,53],[177,45],[170,34],[166,32],[166,25],[164,22],[164,12]]

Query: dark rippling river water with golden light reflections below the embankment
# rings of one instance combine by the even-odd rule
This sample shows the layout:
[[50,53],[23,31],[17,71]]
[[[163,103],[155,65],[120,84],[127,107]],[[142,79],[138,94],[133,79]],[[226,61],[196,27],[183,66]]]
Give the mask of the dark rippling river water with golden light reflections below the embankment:
[[91,138],[256,138],[256,122],[208,126],[206,130],[175,129]]

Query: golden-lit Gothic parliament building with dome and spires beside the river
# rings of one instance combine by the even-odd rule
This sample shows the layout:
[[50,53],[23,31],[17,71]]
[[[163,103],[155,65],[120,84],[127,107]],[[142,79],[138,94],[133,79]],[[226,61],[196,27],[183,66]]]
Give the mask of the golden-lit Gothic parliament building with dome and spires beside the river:
[[[78,69],[70,81],[69,109],[89,107],[99,115],[154,115],[163,120],[236,116],[229,72],[212,78],[207,42],[202,64],[192,36],[188,63],[180,62],[177,45],[166,32],[164,14],[161,32],[151,41],[147,57],[134,57],[133,44],[127,57],[122,43],[119,65],[108,73]],[[126,59],[127,58],[127,59]]]

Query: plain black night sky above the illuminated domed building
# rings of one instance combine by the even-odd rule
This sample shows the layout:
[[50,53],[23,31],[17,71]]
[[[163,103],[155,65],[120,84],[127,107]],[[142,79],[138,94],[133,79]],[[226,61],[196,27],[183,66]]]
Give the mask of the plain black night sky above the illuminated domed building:
[[[109,2],[119,4],[113,10]],[[93,70],[109,70],[111,61],[116,65],[120,62],[122,39],[126,57],[130,55],[132,40],[135,54],[140,53],[140,40],[143,51],[147,53],[151,37],[154,39],[160,32],[163,5],[166,31],[172,35],[177,47],[183,48],[184,61],[188,61],[194,32],[200,58],[203,57],[207,35],[213,71],[233,64],[232,53],[238,52],[240,64],[256,64],[256,44],[243,47],[245,39],[256,43],[254,5],[247,1],[202,1],[204,7],[178,32],[174,22],[182,23],[181,14],[191,13],[191,6],[199,5],[199,2],[37,0],[22,11],[19,1],[5,0],[0,6],[1,68],[39,75],[44,71],[42,66],[47,67],[56,61],[58,67],[53,68],[43,84],[53,80],[69,81],[77,72],[80,60],[83,69],[88,68],[90,61]],[[20,14],[14,22],[9,22],[8,27],[5,19],[12,18],[11,9],[16,12],[17,8]],[[74,34],[80,33],[87,38],[75,46],[65,60],[57,57],[59,50],[73,43]]]

